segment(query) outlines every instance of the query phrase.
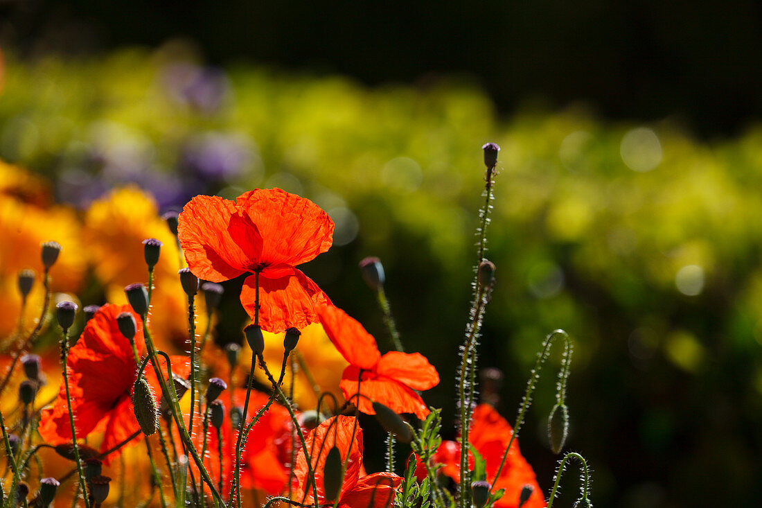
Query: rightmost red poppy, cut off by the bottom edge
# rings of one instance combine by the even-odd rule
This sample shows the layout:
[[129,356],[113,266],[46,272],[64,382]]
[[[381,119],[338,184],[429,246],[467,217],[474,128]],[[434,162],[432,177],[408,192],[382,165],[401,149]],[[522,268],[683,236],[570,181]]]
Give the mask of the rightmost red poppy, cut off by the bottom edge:
[[[479,404],[475,407],[469,442],[486,462],[488,481],[495,479],[495,473],[498,472],[505,448],[511,440],[511,434],[513,434],[511,425],[493,407],[488,404]],[[443,474],[451,477],[456,483],[460,481],[459,443],[443,441],[432,460],[444,466],[440,469]],[[469,465],[473,465],[472,456],[469,456]],[[418,465],[415,472],[419,479],[426,476],[423,465]],[[495,508],[517,508],[521,489],[527,484],[531,485],[534,491],[523,508],[543,508],[545,500],[542,490],[539,489],[532,466],[521,455],[519,442],[516,439],[511,445],[511,452],[508,452],[500,477],[493,487],[493,491],[505,489],[505,494],[495,503]]]

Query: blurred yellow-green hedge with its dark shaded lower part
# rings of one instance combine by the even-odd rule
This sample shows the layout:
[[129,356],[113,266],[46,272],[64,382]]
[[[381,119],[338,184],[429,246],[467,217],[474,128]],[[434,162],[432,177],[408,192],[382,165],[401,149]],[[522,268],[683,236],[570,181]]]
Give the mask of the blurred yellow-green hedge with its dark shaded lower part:
[[[480,351],[481,365],[505,371],[502,413],[513,419],[543,336],[562,328],[577,345],[568,443],[591,461],[597,504],[732,506],[762,494],[762,127],[697,143],[669,121],[604,123],[582,107],[505,121],[471,86],[364,88],[248,65],[226,69],[219,108],[199,111],[162,77],[178,61],[195,65],[171,47],[6,56],[0,156],[60,183],[72,168],[98,178],[82,162],[98,143],[139,146],[151,171],[170,174],[198,133],[248,140],[244,172],[206,191],[280,186],[328,210],[344,245],[305,271],[388,348],[357,270],[379,256],[408,350],[443,378],[427,400],[445,408],[452,437],[480,147],[495,141],[498,281]],[[555,466],[538,438],[550,370],[521,439],[543,488]]]

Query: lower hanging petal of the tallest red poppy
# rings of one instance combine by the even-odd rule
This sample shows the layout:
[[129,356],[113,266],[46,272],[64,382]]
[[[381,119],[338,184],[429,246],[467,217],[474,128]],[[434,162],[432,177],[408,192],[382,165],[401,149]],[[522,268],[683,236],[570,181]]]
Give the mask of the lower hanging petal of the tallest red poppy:
[[[283,268],[288,275],[269,278],[259,275],[259,326],[271,333],[287,328],[304,328],[319,321],[317,309],[331,300],[309,277],[296,268]],[[256,275],[249,275],[241,289],[241,304],[251,320],[255,319]]]

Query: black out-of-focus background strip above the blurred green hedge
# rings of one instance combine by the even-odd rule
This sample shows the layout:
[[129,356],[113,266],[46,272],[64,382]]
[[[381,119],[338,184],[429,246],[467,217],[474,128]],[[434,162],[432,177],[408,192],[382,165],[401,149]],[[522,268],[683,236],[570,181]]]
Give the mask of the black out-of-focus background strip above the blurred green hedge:
[[476,79],[510,113],[528,98],[606,117],[677,115],[698,133],[760,116],[762,6],[659,2],[3,2],[5,43],[30,53],[195,41],[211,63],[253,59],[361,82]]

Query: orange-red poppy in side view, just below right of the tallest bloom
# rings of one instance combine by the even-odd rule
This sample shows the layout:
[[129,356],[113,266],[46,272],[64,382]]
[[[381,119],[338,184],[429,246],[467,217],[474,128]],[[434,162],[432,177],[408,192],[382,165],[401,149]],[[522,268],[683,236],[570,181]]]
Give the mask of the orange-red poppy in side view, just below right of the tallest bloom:
[[[352,401],[363,413],[376,413],[371,403],[374,400],[395,413],[426,417],[429,410],[415,391],[437,386],[439,374],[423,355],[397,351],[381,355],[376,339],[357,320],[333,305],[320,307],[319,316],[328,338],[351,364],[344,369],[339,382],[347,400],[358,393],[359,384],[360,396]],[[362,381],[358,382],[360,373]]]

